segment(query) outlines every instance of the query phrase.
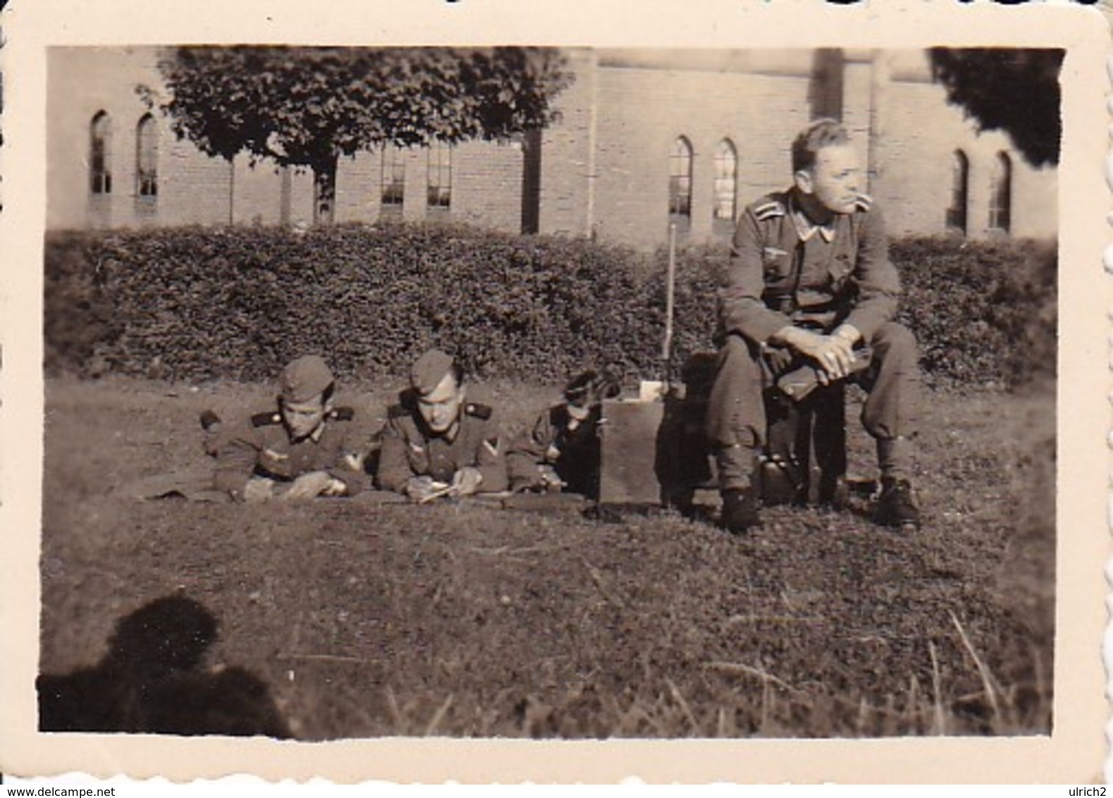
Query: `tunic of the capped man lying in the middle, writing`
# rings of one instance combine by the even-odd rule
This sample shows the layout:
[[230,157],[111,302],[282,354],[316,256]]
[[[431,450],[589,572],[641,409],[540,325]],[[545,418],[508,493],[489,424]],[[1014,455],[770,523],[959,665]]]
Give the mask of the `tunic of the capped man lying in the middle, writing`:
[[397,404],[387,413],[378,455],[378,487],[405,493],[414,476],[451,483],[465,466],[483,475],[481,492],[506,490],[506,461],[502,434],[491,407],[469,403],[460,414],[455,435],[434,434],[416,407]]

